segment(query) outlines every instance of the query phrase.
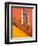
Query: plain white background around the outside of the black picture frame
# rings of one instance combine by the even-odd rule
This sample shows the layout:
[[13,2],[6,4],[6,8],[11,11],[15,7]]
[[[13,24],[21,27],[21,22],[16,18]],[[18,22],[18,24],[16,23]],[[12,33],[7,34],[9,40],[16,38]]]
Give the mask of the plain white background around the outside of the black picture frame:
[[4,12],[5,12],[5,7],[4,7],[4,3],[7,1],[13,1],[13,2],[25,2],[25,3],[37,3],[38,4],[38,0],[0,0],[0,46],[38,46],[38,42],[37,43],[22,43],[22,44],[12,44],[12,45],[5,45],[4,44]]

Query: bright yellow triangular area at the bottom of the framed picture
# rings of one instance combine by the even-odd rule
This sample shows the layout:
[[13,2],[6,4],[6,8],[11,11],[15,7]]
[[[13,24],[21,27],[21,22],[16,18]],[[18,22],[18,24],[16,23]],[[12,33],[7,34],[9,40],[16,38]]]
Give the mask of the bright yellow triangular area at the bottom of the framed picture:
[[12,37],[14,38],[20,38],[20,37],[30,37],[28,34],[24,33],[20,29],[18,29],[16,26],[13,25],[12,30]]

